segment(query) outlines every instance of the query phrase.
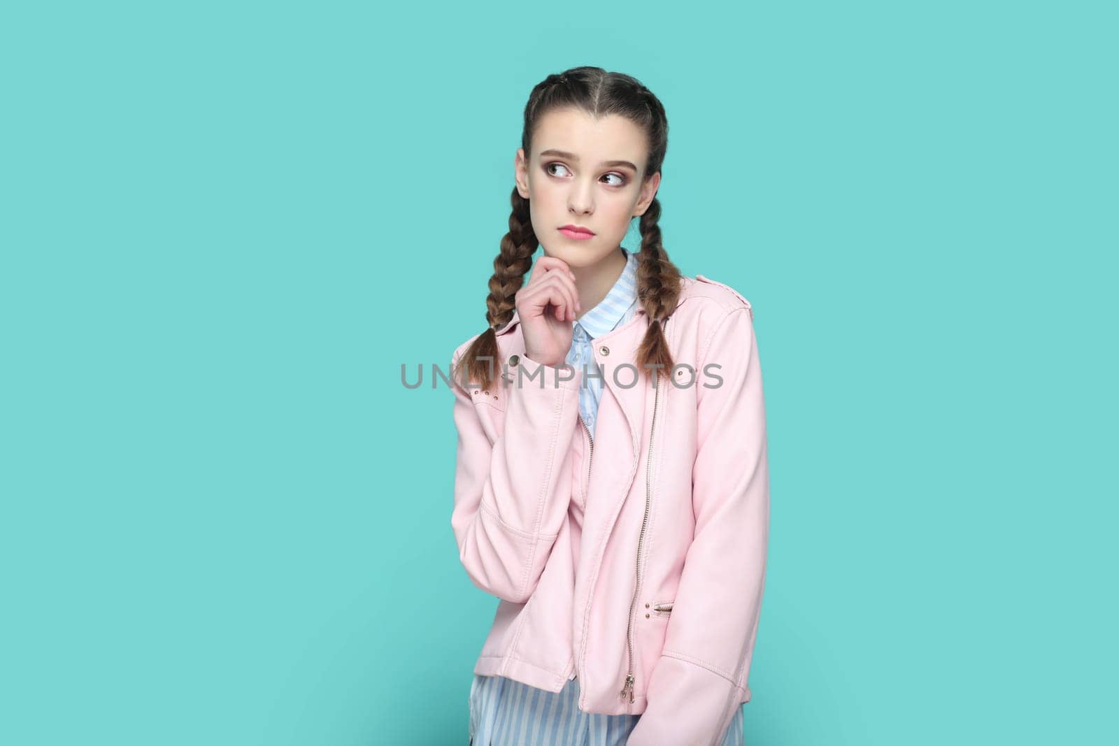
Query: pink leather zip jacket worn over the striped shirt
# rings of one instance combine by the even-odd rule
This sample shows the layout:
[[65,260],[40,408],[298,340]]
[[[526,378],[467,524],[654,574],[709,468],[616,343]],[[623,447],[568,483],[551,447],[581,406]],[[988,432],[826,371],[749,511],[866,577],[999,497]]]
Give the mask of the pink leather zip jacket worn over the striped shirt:
[[474,672],[555,692],[577,674],[584,711],[641,715],[630,746],[716,744],[750,701],[769,539],[753,310],[683,277],[664,327],[677,365],[656,388],[637,377],[646,320],[639,306],[593,341],[593,438],[582,371],[528,358],[516,313],[500,385],[452,381],[451,526],[470,579],[501,599]]

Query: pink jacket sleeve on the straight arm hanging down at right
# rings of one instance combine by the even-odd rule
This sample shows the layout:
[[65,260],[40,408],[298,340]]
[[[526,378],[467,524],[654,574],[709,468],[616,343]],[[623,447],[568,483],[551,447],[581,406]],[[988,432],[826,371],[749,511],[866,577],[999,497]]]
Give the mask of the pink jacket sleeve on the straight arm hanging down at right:
[[[695,536],[629,746],[717,746],[750,699],[769,542],[769,468],[749,304],[718,322],[706,350],[696,377],[704,388],[692,474]],[[713,376],[723,379],[717,388],[711,388],[718,383]]]

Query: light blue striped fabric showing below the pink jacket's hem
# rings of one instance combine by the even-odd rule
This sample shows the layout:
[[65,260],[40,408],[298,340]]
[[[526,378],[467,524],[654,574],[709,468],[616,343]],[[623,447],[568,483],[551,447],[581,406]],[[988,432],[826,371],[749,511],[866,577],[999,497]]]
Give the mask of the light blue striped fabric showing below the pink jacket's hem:
[[[500,676],[476,673],[470,684],[471,746],[621,746],[640,717],[579,709],[577,678],[560,693]],[[722,746],[745,746],[742,707]]]

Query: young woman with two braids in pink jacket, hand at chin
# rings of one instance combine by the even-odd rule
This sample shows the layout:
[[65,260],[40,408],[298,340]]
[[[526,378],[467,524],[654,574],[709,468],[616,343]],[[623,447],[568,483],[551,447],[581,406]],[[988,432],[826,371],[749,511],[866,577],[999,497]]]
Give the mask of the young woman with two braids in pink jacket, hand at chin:
[[489,328],[451,366],[451,525],[500,599],[472,744],[743,743],[769,536],[761,369],[750,303],[661,246],[667,142],[657,97],[598,67],[525,106]]

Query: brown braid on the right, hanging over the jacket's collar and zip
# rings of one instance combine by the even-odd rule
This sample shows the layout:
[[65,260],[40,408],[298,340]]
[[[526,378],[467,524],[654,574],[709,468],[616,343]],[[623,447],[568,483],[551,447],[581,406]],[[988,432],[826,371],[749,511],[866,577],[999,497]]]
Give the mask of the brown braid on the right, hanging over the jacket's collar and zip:
[[[665,339],[664,321],[676,310],[680,295],[680,271],[668,258],[660,244],[660,201],[653,197],[641,215],[641,263],[638,265],[638,298],[649,317],[649,327],[638,348],[638,366],[651,377],[655,372],[668,375],[673,356]],[[650,368],[660,365],[662,368]],[[659,380],[659,379],[653,379]]]

